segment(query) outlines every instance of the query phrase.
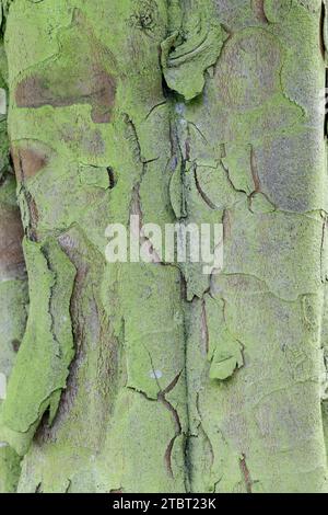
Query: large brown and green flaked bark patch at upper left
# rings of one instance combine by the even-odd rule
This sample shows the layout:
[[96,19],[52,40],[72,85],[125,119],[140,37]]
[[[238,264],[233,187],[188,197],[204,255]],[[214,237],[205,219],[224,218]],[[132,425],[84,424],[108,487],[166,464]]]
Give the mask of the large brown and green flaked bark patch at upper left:
[[15,90],[17,107],[90,104],[94,123],[109,123],[116,96],[114,56],[97,39],[79,9],[73,10],[71,26],[60,31],[58,38],[56,59],[39,64],[19,82]]

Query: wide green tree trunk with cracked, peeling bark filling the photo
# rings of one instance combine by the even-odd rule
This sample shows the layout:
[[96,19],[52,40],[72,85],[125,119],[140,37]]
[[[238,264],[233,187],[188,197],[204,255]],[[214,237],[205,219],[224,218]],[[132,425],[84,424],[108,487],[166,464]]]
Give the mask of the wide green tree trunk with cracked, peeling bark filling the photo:
[[[17,491],[327,492],[321,1],[2,11],[30,293],[1,407]],[[131,214],[222,221],[222,273],[107,263]],[[0,284],[1,365],[23,290]]]

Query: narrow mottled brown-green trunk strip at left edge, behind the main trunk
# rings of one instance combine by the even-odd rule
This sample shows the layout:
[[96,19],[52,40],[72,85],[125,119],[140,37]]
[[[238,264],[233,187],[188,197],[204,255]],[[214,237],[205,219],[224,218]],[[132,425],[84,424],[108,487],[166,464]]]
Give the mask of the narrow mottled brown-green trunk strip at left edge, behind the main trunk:
[[[23,339],[27,308],[26,271],[22,250],[23,227],[16,203],[14,172],[7,127],[8,67],[0,38],[0,404]],[[7,442],[0,443],[0,493],[14,492],[21,458]]]

